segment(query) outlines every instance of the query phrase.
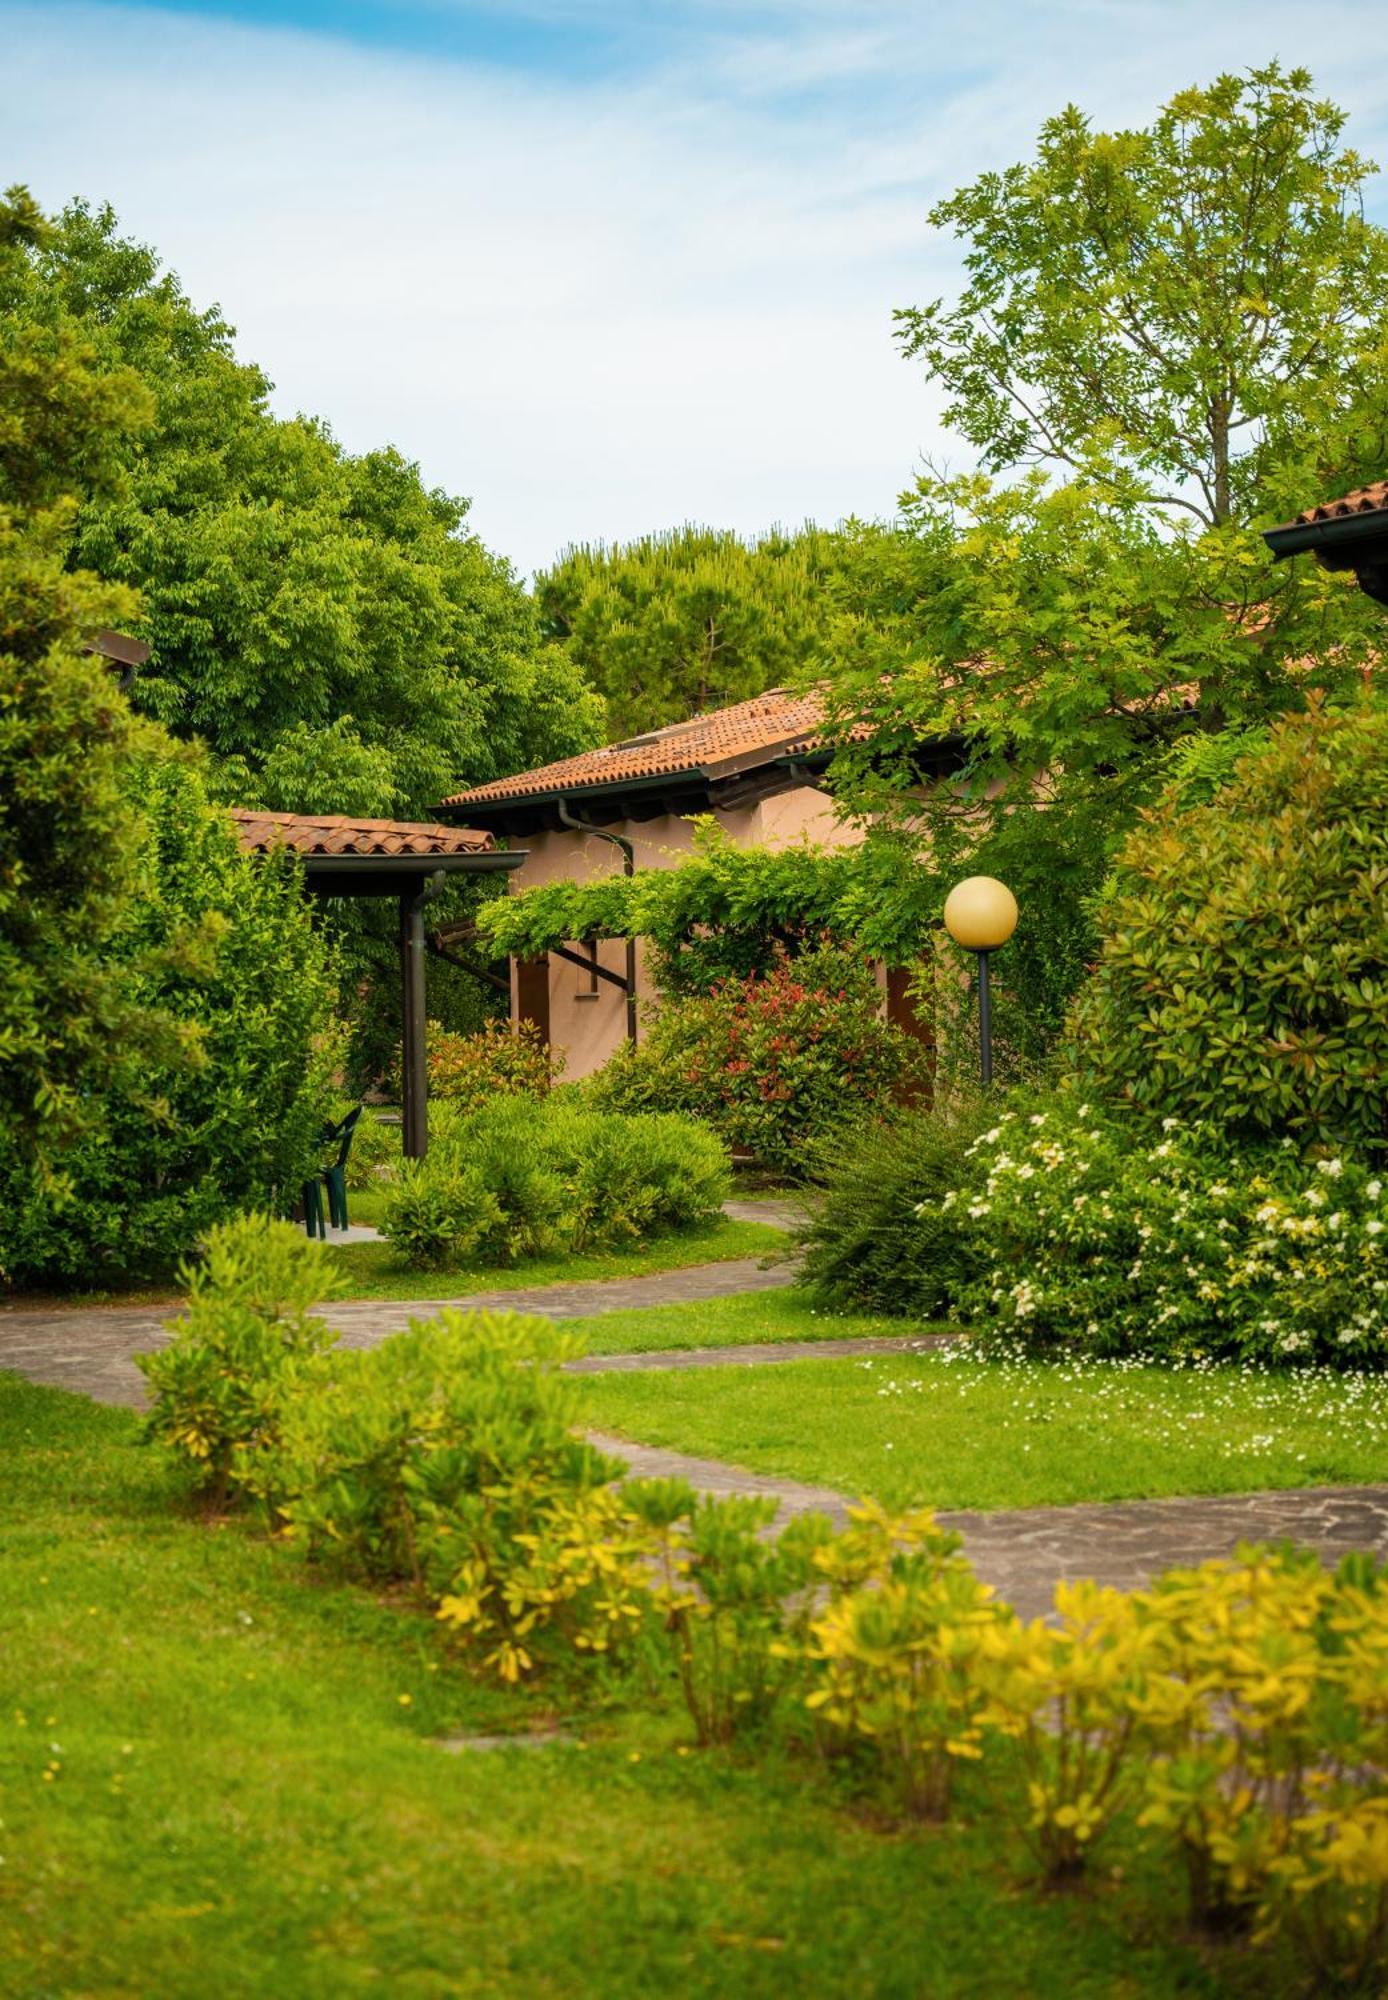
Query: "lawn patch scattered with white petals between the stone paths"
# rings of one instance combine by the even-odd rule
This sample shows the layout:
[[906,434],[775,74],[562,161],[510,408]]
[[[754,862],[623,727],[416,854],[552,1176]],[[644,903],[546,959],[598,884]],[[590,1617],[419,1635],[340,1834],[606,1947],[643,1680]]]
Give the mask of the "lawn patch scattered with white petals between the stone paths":
[[[742,1318],[712,1300],[690,1338]],[[688,1310],[688,1308],[686,1308]],[[794,1296],[780,1338],[828,1332]],[[624,1314],[626,1344],[638,1342]],[[900,1322],[852,1322],[900,1330]],[[588,1322],[594,1346],[602,1322]],[[660,1328],[668,1344],[668,1324]],[[952,1354],[594,1376],[596,1428],[726,1458],[892,1506],[1040,1506],[1258,1492],[1388,1478],[1388,1378],[1132,1364],[1014,1364]]]

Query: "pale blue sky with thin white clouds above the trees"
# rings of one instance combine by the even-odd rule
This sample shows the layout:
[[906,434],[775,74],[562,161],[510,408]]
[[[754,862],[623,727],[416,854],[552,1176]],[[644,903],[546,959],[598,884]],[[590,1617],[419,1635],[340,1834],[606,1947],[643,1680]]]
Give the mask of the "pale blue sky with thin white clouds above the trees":
[[968,466],[892,342],[956,284],[932,202],[1272,56],[1388,166],[1382,0],[0,0],[0,186],[112,202],[276,410],[528,574]]

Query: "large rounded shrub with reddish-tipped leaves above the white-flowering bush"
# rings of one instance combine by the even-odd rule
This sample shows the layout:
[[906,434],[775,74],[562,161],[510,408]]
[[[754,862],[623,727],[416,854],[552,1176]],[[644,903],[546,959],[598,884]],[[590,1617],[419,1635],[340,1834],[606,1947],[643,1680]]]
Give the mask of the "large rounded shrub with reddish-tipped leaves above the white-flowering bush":
[[1312,708],[1208,804],[1168,796],[1100,902],[1094,1088],[1228,1140],[1388,1144],[1388,710]]

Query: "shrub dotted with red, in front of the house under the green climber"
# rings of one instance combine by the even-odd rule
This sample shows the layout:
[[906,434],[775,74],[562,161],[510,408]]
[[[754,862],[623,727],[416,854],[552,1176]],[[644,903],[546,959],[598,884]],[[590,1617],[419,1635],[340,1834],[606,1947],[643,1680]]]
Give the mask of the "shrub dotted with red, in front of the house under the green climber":
[[820,946],[672,1000],[592,1078],[600,1110],[686,1112],[724,1144],[798,1176],[806,1146],[886,1110],[928,1076],[924,1050],[878,1014],[872,968]]

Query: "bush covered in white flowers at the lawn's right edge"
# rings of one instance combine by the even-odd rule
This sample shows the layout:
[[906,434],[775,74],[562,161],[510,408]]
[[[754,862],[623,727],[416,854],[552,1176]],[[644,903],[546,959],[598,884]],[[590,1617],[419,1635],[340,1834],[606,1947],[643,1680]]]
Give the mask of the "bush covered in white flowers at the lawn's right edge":
[[1232,1158],[1164,1122],[1152,1146],[1070,1100],[1008,1110],[932,1204],[984,1246],[956,1296],[978,1328],[1096,1354],[1388,1360],[1388,1194],[1290,1140]]

